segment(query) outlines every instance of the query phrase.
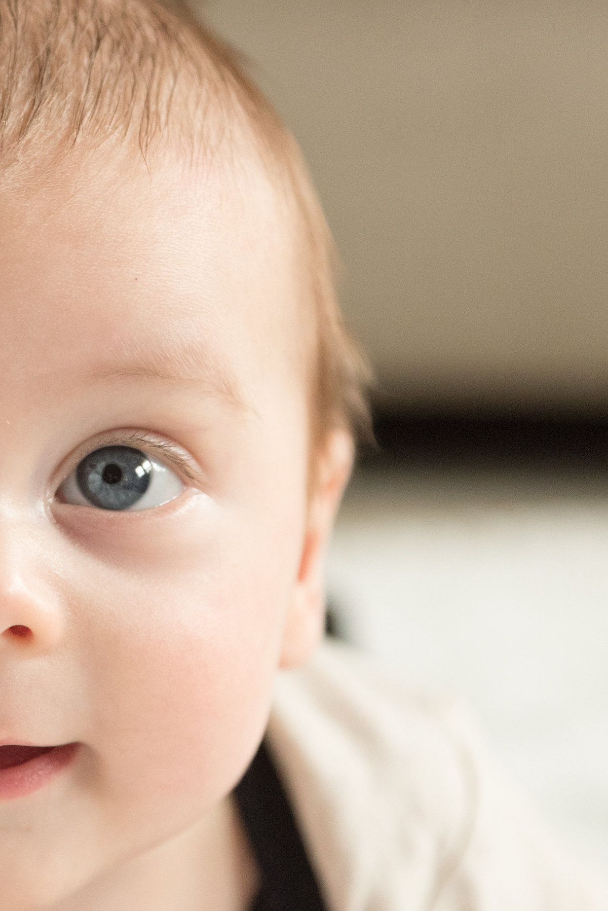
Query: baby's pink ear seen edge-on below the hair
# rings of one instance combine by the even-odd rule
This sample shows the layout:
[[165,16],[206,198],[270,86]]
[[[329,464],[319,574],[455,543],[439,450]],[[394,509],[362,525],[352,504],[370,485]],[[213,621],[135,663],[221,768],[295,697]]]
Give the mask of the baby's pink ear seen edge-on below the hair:
[[319,644],[325,629],[323,567],[333,520],[352,469],[352,436],[346,430],[330,432],[319,455],[316,484],[302,544],[298,578],[283,633],[279,667],[298,667]]

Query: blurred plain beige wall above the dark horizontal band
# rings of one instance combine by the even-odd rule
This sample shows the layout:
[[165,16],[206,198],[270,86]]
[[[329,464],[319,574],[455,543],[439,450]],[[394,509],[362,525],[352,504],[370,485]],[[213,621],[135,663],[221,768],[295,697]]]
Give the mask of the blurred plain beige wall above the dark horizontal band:
[[608,404],[605,0],[211,0],[309,159],[380,380]]

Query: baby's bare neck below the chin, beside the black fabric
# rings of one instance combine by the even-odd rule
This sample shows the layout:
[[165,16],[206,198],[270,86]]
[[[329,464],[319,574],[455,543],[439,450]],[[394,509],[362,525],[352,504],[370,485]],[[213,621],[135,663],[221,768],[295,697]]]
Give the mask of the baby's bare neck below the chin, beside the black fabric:
[[258,867],[231,796],[49,911],[247,911]]

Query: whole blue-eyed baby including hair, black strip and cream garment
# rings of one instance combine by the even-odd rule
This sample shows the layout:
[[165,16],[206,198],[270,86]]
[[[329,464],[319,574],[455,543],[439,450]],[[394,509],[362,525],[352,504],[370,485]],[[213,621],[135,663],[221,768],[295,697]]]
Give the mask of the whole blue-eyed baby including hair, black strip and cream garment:
[[457,706],[318,648],[365,370],[179,3],[0,0],[0,357],[0,911],[608,907]]

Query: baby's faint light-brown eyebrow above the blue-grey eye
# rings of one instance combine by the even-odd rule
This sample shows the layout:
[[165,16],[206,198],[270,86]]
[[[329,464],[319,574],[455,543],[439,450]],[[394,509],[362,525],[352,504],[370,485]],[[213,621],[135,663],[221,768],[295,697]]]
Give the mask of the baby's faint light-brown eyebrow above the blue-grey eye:
[[236,378],[227,366],[209,358],[198,344],[157,345],[132,349],[116,361],[102,363],[89,373],[92,383],[120,379],[153,380],[182,386],[198,386],[238,409],[253,410],[238,391]]

